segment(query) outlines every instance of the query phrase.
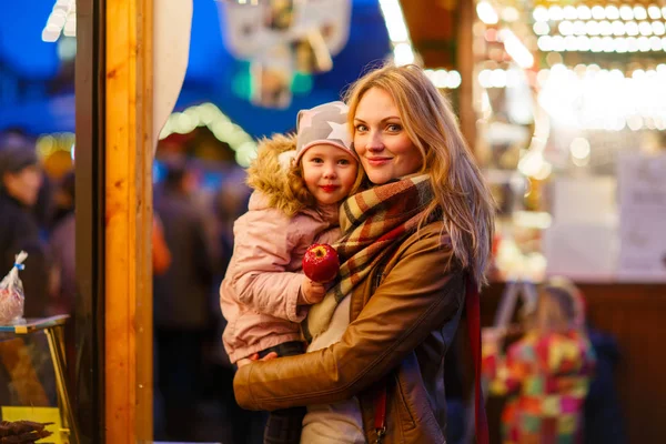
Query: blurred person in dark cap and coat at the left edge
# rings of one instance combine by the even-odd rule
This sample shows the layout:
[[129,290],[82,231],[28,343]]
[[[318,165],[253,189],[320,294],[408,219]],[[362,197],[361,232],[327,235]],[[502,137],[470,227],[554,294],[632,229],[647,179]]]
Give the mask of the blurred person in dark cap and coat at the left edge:
[[20,273],[24,317],[42,317],[48,306],[48,255],[32,212],[41,184],[42,172],[32,147],[0,147],[0,275],[11,270],[19,252],[28,253]]

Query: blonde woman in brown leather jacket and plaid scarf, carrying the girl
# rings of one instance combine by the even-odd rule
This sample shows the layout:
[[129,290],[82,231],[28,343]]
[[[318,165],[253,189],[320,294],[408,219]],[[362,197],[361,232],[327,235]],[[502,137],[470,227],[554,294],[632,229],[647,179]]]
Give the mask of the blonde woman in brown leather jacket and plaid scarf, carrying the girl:
[[243,366],[236,400],[306,405],[302,443],[444,443],[444,356],[485,282],[493,199],[420,68],[372,71],[347,103],[372,186],[341,210],[340,282],[311,309],[309,353]]

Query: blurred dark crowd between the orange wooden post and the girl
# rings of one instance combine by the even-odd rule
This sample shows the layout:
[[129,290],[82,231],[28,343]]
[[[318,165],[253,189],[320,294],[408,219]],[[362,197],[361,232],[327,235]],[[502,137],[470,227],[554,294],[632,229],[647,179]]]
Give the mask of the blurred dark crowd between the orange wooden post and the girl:
[[261,442],[263,415],[235,404],[234,369],[221,343],[219,287],[233,250],[233,221],[250,196],[244,173],[228,172],[211,189],[202,186],[202,170],[191,160],[170,155],[161,163],[153,245],[165,249],[154,250],[153,265],[167,255],[169,264],[153,266],[155,440]]

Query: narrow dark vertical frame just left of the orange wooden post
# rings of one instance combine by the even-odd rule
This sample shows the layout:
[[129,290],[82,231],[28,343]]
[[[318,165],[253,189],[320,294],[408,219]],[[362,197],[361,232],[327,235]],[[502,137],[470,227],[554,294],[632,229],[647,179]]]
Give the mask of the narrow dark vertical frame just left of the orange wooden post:
[[82,444],[104,443],[105,0],[77,0],[77,354],[73,410]]

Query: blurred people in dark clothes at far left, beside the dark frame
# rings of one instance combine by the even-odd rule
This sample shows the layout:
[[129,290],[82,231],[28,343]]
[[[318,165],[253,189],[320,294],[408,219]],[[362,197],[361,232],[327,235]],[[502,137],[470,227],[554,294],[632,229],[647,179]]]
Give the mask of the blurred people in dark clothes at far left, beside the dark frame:
[[70,313],[73,274],[65,269],[73,266],[73,174],[49,178],[32,141],[11,131],[0,134],[0,273],[26,251],[26,317]]

